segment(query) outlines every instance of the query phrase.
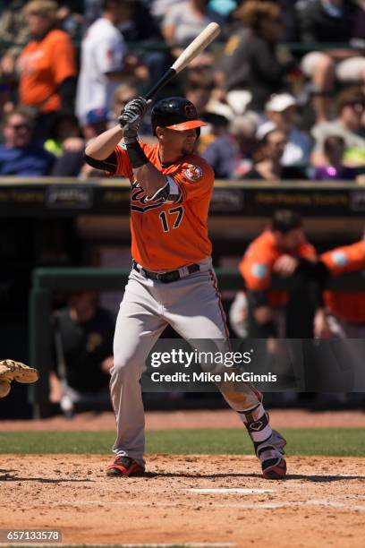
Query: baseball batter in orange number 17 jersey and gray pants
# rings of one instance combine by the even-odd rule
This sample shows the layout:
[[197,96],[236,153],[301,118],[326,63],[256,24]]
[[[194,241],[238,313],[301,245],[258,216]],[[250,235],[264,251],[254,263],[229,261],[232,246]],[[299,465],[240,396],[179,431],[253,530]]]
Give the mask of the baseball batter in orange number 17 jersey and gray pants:
[[[144,473],[140,376],[166,325],[185,339],[228,338],[208,239],[214,173],[193,153],[205,124],[187,99],[163,99],[151,114],[158,142],[147,145],[138,140],[147,108],[144,98],[133,99],[119,124],[90,142],[85,154],[91,166],[131,181],[132,271],[116,321],[110,381],[117,437],[106,474],[113,476]],[[249,384],[223,395],[241,416],[264,477],[284,477],[286,442],[271,429],[262,395]]]

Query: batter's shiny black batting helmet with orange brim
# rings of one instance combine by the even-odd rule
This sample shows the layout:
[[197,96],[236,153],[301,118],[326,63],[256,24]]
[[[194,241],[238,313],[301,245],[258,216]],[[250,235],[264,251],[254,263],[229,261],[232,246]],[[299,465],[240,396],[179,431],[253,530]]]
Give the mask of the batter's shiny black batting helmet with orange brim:
[[197,109],[183,97],[169,97],[156,103],[151,112],[152,132],[156,135],[157,125],[178,132],[207,125],[198,119]]

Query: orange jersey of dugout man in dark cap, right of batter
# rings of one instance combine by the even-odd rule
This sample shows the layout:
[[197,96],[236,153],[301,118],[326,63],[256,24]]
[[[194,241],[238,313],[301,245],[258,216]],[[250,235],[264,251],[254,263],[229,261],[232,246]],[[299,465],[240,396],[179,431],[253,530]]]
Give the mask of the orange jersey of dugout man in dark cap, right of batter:
[[[270,230],[265,230],[249,245],[243,255],[239,269],[245,281],[247,289],[251,291],[267,291],[271,285],[271,277],[276,260],[287,254],[276,246],[274,235]],[[313,245],[308,242],[300,244],[293,256],[304,259],[313,259],[317,256]],[[283,306],[287,302],[284,291],[269,291],[267,303],[272,306]]]

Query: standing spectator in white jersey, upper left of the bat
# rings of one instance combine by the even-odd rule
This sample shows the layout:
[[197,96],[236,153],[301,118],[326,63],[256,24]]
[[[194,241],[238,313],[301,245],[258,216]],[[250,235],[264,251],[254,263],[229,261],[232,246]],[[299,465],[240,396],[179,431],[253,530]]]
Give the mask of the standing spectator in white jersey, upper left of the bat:
[[125,62],[127,47],[118,27],[129,21],[132,0],[104,0],[104,11],[88,29],[81,44],[81,71],[76,114],[81,126],[90,111],[112,105],[115,89],[131,73]]

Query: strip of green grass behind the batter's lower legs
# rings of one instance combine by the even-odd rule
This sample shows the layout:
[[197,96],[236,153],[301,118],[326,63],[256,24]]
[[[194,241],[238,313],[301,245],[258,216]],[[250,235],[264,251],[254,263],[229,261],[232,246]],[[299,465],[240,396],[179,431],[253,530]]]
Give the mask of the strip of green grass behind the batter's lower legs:
[[[363,428],[284,428],[289,455],[365,457]],[[0,453],[107,454],[114,431],[104,432],[0,432]],[[147,453],[172,455],[251,455],[243,429],[161,430],[147,432]]]

